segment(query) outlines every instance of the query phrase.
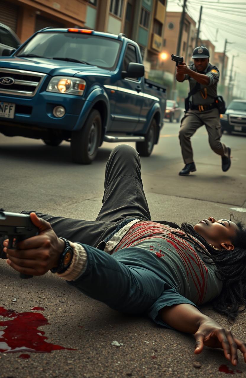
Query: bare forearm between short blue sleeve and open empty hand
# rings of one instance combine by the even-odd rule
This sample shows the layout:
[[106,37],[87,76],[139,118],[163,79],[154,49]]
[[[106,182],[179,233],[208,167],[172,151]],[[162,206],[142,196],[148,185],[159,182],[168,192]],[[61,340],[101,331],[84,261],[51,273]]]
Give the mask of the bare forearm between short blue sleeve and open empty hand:
[[201,322],[210,319],[187,303],[164,307],[159,311],[159,316],[164,323],[187,333],[196,333]]

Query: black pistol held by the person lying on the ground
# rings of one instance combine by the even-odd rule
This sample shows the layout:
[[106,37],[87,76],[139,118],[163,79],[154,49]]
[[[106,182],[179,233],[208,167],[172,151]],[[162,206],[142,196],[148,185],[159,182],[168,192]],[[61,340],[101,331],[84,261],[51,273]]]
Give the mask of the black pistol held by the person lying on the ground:
[[[38,231],[39,229],[32,223],[30,215],[0,211],[0,236],[6,236],[6,239],[9,239],[8,248],[13,249],[13,245],[37,235]],[[20,273],[20,278],[31,277],[33,276],[30,274]]]

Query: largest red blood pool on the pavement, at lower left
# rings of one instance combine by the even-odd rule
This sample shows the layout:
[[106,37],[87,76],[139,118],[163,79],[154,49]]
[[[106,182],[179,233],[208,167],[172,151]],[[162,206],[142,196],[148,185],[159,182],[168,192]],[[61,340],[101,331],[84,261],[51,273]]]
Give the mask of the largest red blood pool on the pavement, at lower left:
[[76,350],[45,341],[48,339],[44,336],[45,332],[37,329],[50,324],[43,314],[37,312],[18,313],[14,310],[6,310],[4,307],[0,307],[0,316],[12,318],[0,321],[0,326],[6,327],[4,330],[0,330],[0,352],[50,353],[52,350],[58,349]]

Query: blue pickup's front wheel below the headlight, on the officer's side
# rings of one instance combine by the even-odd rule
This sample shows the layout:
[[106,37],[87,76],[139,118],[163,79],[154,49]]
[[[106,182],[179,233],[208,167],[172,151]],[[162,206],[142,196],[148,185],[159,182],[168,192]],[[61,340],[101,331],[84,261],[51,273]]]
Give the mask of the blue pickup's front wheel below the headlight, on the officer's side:
[[72,160],[79,164],[90,164],[97,156],[101,138],[101,116],[92,110],[81,130],[71,136]]

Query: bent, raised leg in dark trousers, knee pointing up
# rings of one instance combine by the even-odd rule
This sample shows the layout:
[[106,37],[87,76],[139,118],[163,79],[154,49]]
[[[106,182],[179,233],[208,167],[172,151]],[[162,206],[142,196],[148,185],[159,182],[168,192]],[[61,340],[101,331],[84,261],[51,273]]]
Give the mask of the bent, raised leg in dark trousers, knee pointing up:
[[139,153],[134,148],[123,144],[112,150],[106,165],[103,206],[96,220],[150,220],[140,169]]

